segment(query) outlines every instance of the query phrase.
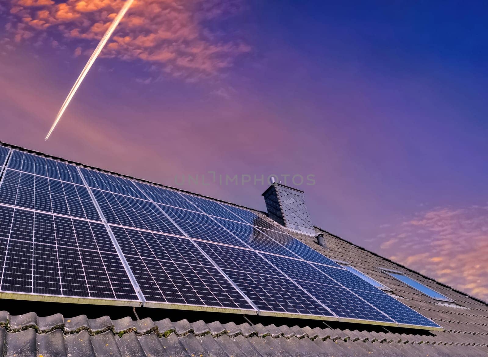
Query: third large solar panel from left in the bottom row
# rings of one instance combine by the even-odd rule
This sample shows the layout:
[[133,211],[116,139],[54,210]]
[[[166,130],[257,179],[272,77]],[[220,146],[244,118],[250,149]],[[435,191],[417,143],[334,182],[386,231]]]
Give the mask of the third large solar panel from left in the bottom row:
[[254,251],[203,241],[197,244],[258,309],[271,313],[333,316]]

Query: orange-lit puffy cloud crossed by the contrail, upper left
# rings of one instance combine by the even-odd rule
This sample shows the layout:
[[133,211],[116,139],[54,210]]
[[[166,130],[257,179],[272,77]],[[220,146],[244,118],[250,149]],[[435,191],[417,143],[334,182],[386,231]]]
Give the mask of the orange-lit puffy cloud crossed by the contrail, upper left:
[[[23,42],[47,31],[70,46],[94,47],[122,4],[122,0],[11,0],[7,33]],[[241,0],[136,0],[102,57],[150,62],[166,75],[190,81],[215,76],[251,51],[243,41],[210,30],[243,9]]]

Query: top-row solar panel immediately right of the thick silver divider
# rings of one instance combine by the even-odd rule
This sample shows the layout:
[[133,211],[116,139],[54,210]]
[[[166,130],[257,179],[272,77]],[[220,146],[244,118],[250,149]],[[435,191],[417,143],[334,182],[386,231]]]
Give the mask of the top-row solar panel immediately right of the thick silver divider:
[[134,183],[129,179],[124,179],[119,176],[106,174],[104,172],[80,168],[86,183],[91,188],[98,188],[104,191],[110,191],[125,196],[147,199],[144,194],[135,187]]

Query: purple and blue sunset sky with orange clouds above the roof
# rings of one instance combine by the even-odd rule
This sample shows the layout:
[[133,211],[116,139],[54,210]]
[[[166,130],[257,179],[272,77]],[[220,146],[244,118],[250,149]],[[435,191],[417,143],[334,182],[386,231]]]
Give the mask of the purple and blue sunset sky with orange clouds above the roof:
[[260,210],[275,175],[488,300],[486,2],[136,0],[44,141],[122,4],[0,1],[1,141]]

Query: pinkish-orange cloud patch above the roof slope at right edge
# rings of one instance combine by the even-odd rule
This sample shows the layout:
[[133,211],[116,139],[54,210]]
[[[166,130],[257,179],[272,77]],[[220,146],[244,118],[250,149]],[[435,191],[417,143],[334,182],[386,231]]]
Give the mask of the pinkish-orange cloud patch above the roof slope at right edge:
[[380,246],[383,254],[488,300],[488,215],[485,207],[439,207],[392,228],[396,230],[395,235]]

